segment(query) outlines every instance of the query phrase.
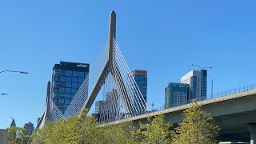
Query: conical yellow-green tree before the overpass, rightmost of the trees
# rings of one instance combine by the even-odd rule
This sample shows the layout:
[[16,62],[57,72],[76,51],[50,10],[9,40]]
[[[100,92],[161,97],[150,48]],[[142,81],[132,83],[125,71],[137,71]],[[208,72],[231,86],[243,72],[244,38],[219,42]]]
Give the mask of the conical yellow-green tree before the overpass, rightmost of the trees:
[[219,128],[214,126],[214,118],[202,110],[197,101],[193,101],[190,108],[184,110],[183,122],[178,124],[174,143],[217,143]]

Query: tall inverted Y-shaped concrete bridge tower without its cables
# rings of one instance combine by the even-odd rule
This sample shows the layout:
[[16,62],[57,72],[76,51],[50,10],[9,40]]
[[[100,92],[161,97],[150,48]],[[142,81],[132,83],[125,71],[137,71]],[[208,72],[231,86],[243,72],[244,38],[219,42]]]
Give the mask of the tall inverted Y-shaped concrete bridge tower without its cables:
[[[90,91],[90,94],[88,95],[86,102],[84,103],[82,110],[88,109],[90,110],[90,107],[94,103],[95,98],[98,95],[98,92],[101,90],[102,85],[104,84],[107,75],[111,74],[114,78],[114,81],[117,83],[117,89],[120,91],[119,96],[122,99],[122,102],[124,102],[124,106],[126,108],[126,112],[133,114],[134,111],[132,109],[130,97],[128,96],[125,83],[123,82],[122,74],[120,72],[120,69],[118,67],[118,63],[115,58],[115,49],[114,49],[114,41],[116,38],[116,14],[114,10],[110,13],[110,21],[109,21],[109,38],[107,42],[107,59],[103,66],[103,69],[101,71],[101,74],[99,74],[97,78],[97,82],[95,82],[92,90]],[[115,66],[115,70],[114,70]],[[118,76],[120,78],[116,78],[115,76]],[[81,111],[82,113],[82,111]]]

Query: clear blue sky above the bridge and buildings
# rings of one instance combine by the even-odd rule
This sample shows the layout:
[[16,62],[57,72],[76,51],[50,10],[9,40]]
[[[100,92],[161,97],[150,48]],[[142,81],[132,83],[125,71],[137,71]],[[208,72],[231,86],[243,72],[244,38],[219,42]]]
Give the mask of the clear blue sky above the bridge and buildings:
[[[213,66],[214,92],[256,83],[256,2],[7,1],[0,2],[0,128],[36,124],[46,82],[60,60],[93,63],[117,13],[117,41],[130,70],[148,70],[148,104],[164,103],[167,82]],[[208,90],[208,94],[210,89]]]

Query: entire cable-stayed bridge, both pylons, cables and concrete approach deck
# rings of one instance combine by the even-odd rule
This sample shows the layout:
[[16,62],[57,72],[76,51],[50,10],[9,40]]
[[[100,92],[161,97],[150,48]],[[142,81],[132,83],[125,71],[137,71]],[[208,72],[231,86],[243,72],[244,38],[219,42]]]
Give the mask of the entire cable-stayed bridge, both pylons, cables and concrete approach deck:
[[[238,90],[228,90],[221,94],[210,95],[210,99],[202,101],[202,108],[210,112],[216,124],[222,128],[219,140],[256,141],[256,86],[245,86]],[[47,84],[46,109],[37,128],[47,121],[56,122],[60,118],[68,118],[81,114],[82,110],[90,110],[96,99],[101,100],[98,110],[100,124],[106,122],[134,121],[146,122],[146,118],[158,114],[166,116],[165,121],[177,126],[182,122],[182,111],[189,105],[175,106],[157,112],[148,112],[146,101],[140,92],[134,76],[122,55],[116,41],[116,14],[110,14],[109,37],[106,47],[91,65],[82,86],[78,89],[64,114],[52,101],[50,82]]]

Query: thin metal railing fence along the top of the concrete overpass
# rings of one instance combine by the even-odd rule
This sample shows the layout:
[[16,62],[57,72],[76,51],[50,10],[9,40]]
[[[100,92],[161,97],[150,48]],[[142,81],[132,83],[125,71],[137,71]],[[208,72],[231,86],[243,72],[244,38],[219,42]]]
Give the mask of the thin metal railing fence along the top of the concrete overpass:
[[[242,93],[242,92],[246,92],[246,91],[250,91],[250,90],[256,90],[256,84],[252,84],[252,85],[248,85],[248,86],[241,86],[235,89],[231,89],[231,90],[225,90],[225,91],[221,91],[215,94],[208,94],[206,96],[206,98],[202,98],[201,101],[203,100],[210,100],[213,98],[219,98],[219,97],[225,97],[228,95],[232,95],[232,94],[238,94],[238,93]],[[190,102],[188,102],[190,103]],[[187,103],[186,103],[187,104]],[[161,110],[166,110],[166,109],[170,109],[170,108],[174,108],[174,107],[179,107],[182,105],[176,105],[176,106],[170,106],[170,107],[165,107],[165,106],[161,106],[161,107],[157,107],[157,108],[152,108],[152,110],[148,110],[146,111],[146,113],[153,113],[155,111],[161,111]]]

